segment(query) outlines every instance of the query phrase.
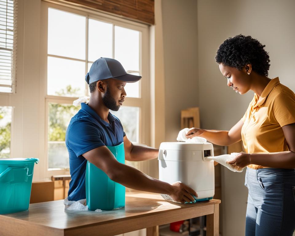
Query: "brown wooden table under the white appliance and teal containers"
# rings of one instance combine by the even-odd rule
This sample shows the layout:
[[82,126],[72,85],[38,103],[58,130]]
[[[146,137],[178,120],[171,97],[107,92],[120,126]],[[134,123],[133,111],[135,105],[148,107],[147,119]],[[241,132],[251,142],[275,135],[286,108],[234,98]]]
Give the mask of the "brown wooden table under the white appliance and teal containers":
[[112,211],[69,211],[63,200],[33,203],[29,210],[0,215],[0,235],[117,235],[179,220],[207,215],[207,236],[219,236],[219,203],[210,200],[195,204],[165,201],[159,194],[126,193],[125,208]]

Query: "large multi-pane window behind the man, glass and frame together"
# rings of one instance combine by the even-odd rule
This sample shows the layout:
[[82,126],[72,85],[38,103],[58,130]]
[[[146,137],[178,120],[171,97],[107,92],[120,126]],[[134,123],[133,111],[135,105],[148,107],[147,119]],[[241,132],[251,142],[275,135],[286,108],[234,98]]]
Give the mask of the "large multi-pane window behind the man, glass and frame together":
[[[149,126],[148,26],[103,13],[85,12],[42,2],[47,37],[44,50],[45,143],[48,170],[69,168],[65,132],[80,107],[73,100],[89,96],[85,75],[100,57],[115,58],[127,73],[142,75],[145,81],[126,84],[127,97],[112,114],[123,124],[134,143],[146,143]],[[45,32],[45,31],[44,31]],[[146,46],[142,46],[143,44]],[[46,53],[45,53],[46,52]],[[49,174],[50,175],[50,174]]]

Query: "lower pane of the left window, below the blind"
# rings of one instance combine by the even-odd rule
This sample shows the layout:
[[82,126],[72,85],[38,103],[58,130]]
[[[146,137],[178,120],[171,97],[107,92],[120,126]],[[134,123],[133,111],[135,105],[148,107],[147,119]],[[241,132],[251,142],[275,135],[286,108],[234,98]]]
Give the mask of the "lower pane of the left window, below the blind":
[[10,158],[12,107],[0,107],[0,158]]

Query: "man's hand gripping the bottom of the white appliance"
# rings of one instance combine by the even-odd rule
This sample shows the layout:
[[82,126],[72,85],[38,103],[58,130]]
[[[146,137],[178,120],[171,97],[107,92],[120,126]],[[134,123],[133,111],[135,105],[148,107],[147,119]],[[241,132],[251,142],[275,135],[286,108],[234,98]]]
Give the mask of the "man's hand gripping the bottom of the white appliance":
[[173,186],[173,192],[170,194],[170,197],[175,202],[185,203],[185,202],[194,202],[195,199],[192,195],[198,196],[197,192],[187,185],[177,181],[171,184]]

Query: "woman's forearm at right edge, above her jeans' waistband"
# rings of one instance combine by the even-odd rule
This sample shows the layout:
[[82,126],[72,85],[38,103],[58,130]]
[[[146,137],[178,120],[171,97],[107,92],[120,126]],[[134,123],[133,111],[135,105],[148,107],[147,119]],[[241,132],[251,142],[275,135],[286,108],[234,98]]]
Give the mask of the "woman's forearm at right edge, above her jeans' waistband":
[[273,168],[295,169],[295,153],[292,151],[267,154],[253,153],[250,154],[250,164]]

